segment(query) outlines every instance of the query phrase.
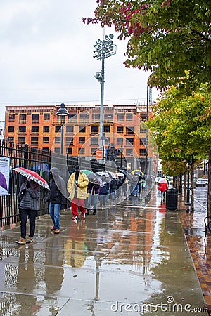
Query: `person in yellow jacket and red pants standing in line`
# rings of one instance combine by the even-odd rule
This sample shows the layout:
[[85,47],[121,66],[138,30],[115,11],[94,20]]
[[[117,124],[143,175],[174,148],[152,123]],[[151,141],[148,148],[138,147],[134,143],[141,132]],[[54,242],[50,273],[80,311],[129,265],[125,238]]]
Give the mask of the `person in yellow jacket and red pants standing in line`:
[[78,219],[77,208],[82,213],[82,219],[85,218],[85,199],[87,198],[87,186],[89,179],[87,175],[80,171],[79,166],[75,166],[75,172],[71,174],[68,180],[69,199],[72,208],[72,220]]

